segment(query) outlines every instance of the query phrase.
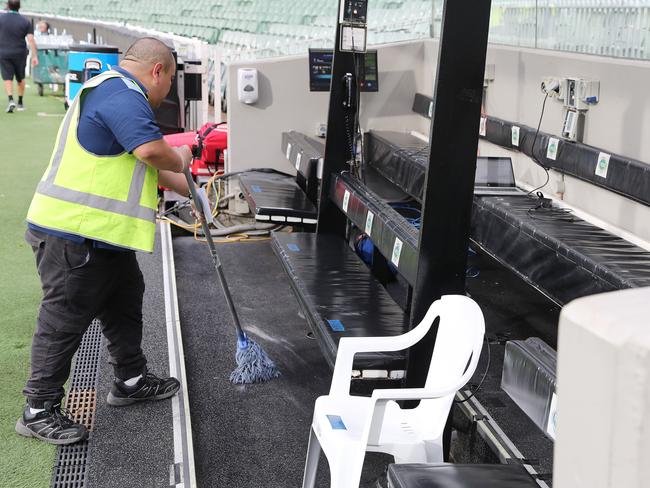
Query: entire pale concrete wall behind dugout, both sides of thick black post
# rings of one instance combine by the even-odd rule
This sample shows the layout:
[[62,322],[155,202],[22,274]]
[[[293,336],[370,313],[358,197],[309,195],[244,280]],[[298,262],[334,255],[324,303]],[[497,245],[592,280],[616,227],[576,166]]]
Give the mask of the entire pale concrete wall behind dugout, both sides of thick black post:
[[[413,95],[433,95],[438,41],[412,41],[379,47],[379,93],[362,97],[362,126],[367,129],[415,130],[428,135],[429,121],[411,113]],[[495,79],[485,98],[487,114],[536,127],[546,76],[580,76],[600,81],[600,102],[586,118],[584,142],[612,153],[650,163],[650,62],[628,61],[541,49],[490,45],[487,63],[495,66]],[[228,93],[231,170],[269,166],[291,172],[280,150],[280,134],[299,130],[314,134],[327,120],[327,93],[310,93],[307,57],[241,62],[230,66],[228,86],[236,86],[237,69],[260,72],[260,101],[245,106]],[[560,134],[563,107],[556,99],[546,103],[541,130]],[[530,158],[487,142],[483,155],[513,157],[519,184],[541,185],[546,175]],[[572,177],[551,172],[544,192],[610,231],[650,248],[650,207]]]

